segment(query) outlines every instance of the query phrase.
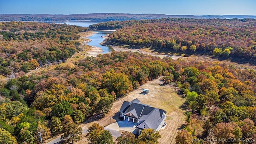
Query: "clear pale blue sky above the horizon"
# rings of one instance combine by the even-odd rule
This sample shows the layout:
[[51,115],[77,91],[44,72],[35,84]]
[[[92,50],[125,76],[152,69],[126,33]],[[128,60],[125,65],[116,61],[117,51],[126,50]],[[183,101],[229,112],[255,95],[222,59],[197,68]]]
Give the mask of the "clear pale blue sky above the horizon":
[[256,0],[0,0],[0,14],[256,15]]

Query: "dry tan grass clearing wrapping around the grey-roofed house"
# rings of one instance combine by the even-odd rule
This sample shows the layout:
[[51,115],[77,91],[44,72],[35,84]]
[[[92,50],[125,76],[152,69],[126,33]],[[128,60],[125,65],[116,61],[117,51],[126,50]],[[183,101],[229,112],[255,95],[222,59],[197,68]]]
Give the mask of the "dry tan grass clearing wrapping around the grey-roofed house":
[[[150,93],[141,94],[142,88],[149,89]],[[97,118],[90,118],[81,125],[82,128],[86,129],[94,122],[100,124],[100,126],[107,126],[110,124],[110,117],[114,116],[116,112],[119,111],[122,103],[124,101],[132,101],[135,98],[138,98],[141,103],[166,110],[167,118],[165,121],[167,125],[164,130],[159,130],[159,133],[162,135],[159,142],[160,144],[173,144],[174,138],[177,134],[177,129],[180,128],[180,126],[185,122],[185,111],[180,108],[185,100],[177,94],[173,86],[163,85],[160,78],[149,81],[143,86],[140,86],[140,88],[137,90],[134,90],[126,96],[119,98],[119,100],[114,102],[112,109],[104,116],[104,118],[101,118],[100,120]],[[112,120],[112,122],[114,122],[114,120]],[[77,144],[86,143],[86,138],[83,138],[82,141],[78,142]]]

